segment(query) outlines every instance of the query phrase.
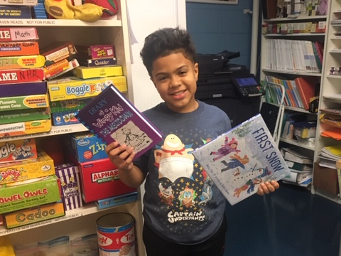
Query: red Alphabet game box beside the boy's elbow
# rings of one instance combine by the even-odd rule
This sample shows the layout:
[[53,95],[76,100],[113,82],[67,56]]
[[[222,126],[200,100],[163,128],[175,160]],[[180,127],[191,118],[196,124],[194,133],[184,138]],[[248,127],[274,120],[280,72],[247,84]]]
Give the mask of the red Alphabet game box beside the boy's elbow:
[[78,167],[82,198],[86,203],[136,191],[136,188],[129,188],[120,181],[119,171],[109,159],[82,163]]

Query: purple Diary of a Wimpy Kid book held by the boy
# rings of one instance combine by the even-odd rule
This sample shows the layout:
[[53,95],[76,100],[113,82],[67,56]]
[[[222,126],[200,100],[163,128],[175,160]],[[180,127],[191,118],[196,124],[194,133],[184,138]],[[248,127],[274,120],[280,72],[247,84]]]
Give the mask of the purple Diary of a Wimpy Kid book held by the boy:
[[134,147],[141,156],[162,140],[162,134],[114,85],[109,85],[75,115],[105,144]]

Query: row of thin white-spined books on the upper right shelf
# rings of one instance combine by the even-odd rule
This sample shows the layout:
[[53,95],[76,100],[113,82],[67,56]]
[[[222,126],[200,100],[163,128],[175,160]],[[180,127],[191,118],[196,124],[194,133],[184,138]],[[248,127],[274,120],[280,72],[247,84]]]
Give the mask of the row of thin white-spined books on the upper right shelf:
[[278,71],[320,73],[323,44],[312,41],[267,39],[265,68]]

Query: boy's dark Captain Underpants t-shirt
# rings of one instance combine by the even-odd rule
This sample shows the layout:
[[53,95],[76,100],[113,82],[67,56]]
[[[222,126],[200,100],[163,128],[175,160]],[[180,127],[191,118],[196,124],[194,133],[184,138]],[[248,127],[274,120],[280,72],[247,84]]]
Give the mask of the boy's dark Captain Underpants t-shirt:
[[177,113],[165,103],[144,115],[162,132],[163,142],[134,161],[146,174],[144,220],[162,238],[195,244],[222,223],[225,199],[191,152],[231,129],[227,114],[199,102],[194,112]]

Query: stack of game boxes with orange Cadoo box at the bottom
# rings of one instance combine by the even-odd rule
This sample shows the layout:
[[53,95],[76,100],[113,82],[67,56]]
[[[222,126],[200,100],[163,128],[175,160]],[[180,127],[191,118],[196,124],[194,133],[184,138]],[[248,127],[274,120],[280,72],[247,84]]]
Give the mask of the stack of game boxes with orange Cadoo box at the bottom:
[[[16,228],[65,215],[60,178],[53,159],[34,139],[1,142],[0,214],[6,228]],[[34,215],[35,218],[20,218]]]

